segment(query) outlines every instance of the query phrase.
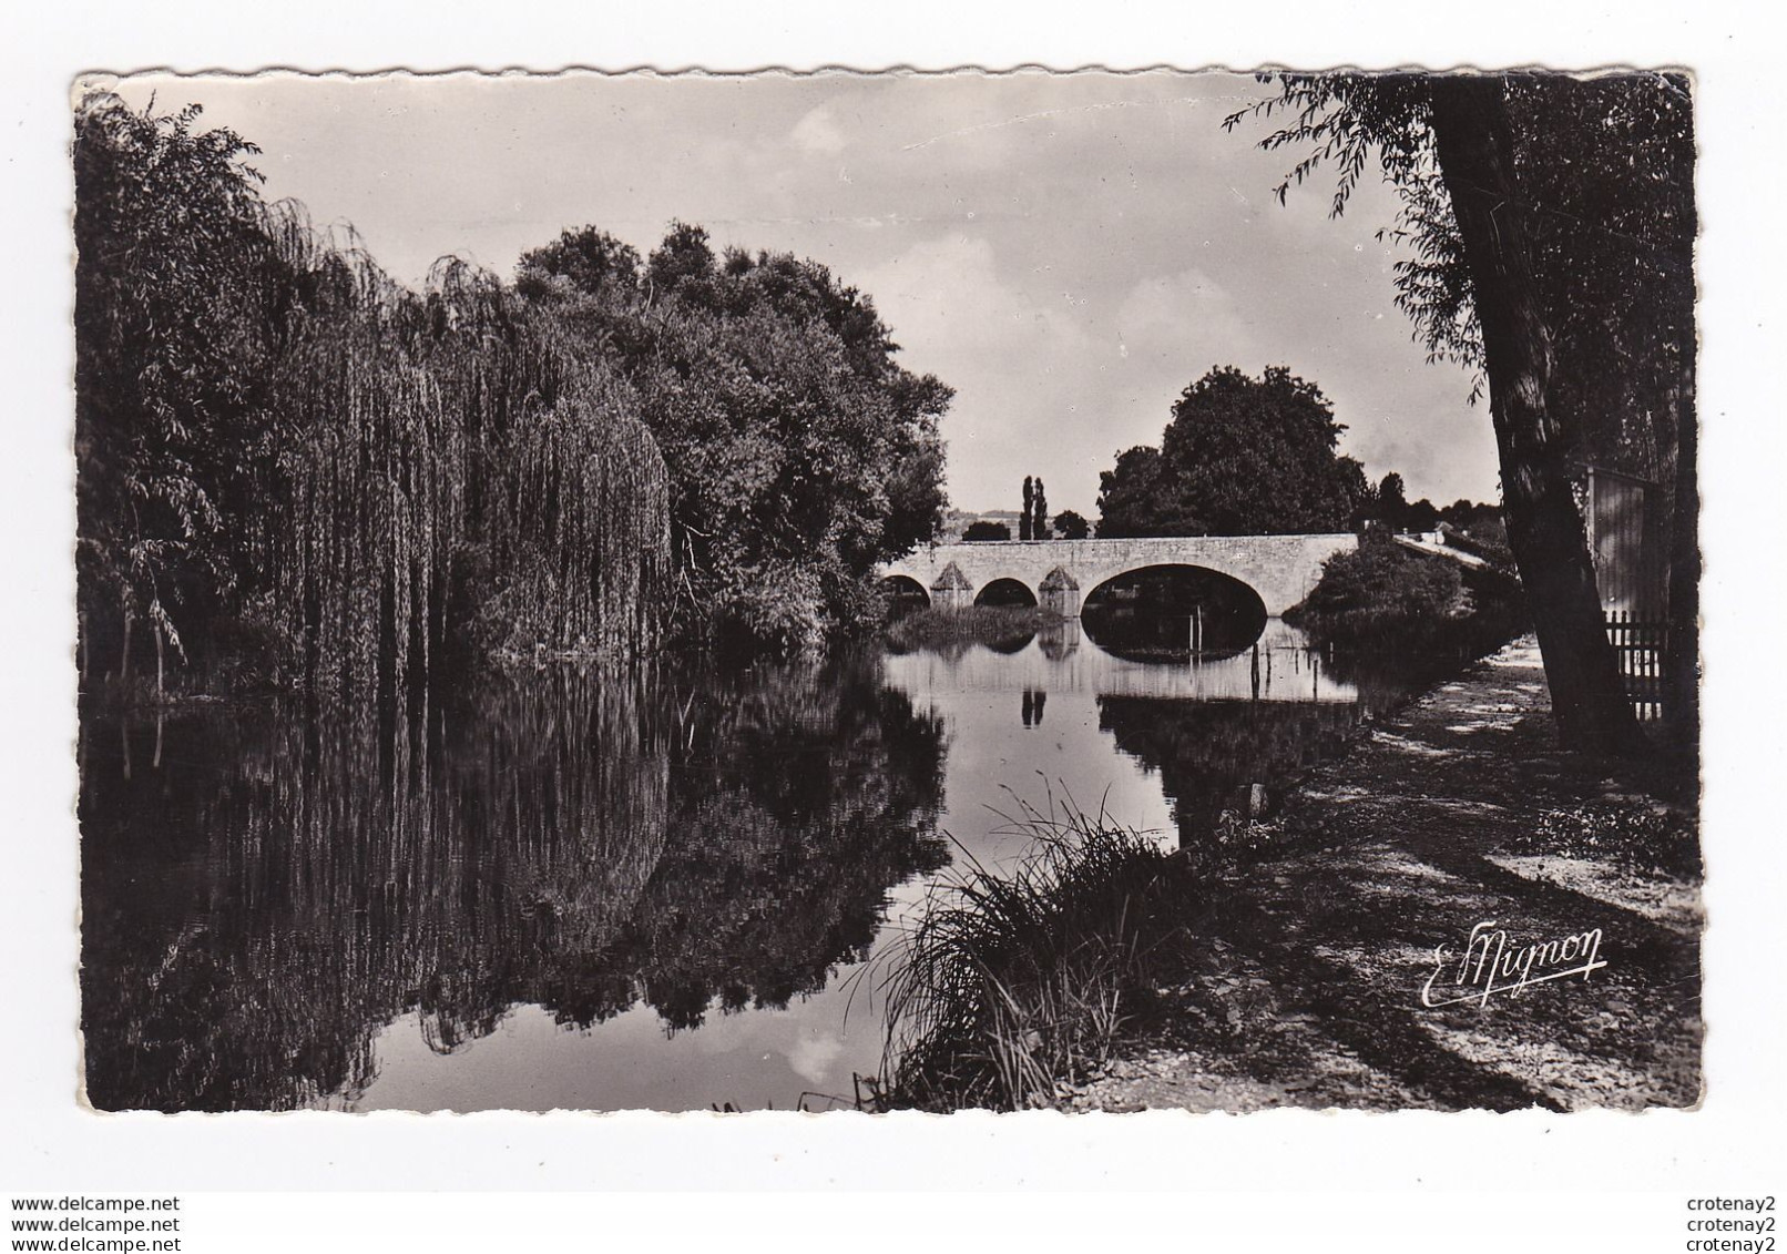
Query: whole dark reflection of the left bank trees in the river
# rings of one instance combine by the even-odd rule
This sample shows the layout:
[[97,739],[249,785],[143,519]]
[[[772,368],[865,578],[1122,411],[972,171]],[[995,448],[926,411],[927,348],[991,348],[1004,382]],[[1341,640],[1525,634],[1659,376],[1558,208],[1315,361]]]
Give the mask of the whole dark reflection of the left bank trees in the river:
[[[102,1109],[363,1091],[379,1027],[518,1002],[670,1029],[861,957],[947,859],[942,725],[836,665],[493,682],[447,709],[84,723],[82,1004]],[[129,766],[127,766],[129,763]]]

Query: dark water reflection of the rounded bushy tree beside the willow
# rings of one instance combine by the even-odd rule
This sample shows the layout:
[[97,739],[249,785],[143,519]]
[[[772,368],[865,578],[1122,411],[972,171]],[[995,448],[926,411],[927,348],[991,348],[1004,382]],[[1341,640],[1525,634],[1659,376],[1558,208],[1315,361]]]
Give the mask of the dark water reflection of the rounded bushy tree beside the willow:
[[[675,834],[604,956],[672,1029],[715,997],[742,1009],[818,991],[868,956],[886,890],[949,861],[942,720],[872,668],[754,672],[686,697]],[[590,1024],[631,1004],[611,991],[541,1000]]]

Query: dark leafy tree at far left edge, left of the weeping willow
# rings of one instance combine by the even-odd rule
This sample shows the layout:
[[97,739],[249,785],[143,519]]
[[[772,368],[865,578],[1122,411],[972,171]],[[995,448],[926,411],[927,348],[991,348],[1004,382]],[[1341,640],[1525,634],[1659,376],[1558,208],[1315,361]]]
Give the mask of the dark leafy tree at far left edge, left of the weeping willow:
[[[147,620],[182,632],[232,591],[229,522],[250,497],[248,395],[268,354],[243,275],[270,264],[256,148],[193,132],[197,109],[150,120],[88,107],[75,143],[75,482],[82,643]],[[193,613],[188,613],[193,611]],[[198,645],[200,641],[193,641]]]

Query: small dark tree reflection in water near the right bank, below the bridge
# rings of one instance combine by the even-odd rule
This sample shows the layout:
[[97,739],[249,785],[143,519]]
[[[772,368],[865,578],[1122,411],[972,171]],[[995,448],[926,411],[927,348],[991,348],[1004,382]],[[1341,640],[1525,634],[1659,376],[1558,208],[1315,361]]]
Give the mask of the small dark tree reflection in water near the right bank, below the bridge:
[[1238,790],[1276,790],[1299,768],[1338,752],[1356,722],[1358,707],[1340,702],[1099,697],[1099,731],[1158,772],[1181,849],[1212,836]]

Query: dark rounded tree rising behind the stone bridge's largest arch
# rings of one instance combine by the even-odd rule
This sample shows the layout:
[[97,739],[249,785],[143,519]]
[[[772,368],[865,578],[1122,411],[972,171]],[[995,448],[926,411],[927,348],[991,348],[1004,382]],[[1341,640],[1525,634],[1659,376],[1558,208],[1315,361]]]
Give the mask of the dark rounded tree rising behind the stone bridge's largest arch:
[[1321,389],[1283,366],[1221,366],[1172,407],[1160,448],[1099,475],[1099,536],[1253,536],[1346,531],[1365,472],[1335,452],[1344,427]]

